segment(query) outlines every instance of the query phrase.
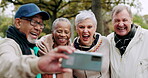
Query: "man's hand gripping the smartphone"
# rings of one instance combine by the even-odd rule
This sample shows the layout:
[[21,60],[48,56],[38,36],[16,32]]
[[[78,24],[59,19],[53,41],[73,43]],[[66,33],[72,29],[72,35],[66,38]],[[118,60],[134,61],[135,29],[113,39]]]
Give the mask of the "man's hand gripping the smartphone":
[[51,50],[50,53],[40,57],[38,62],[39,69],[46,73],[71,71],[71,69],[61,67],[60,58],[68,59],[69,57],[63,52],[71,54],[74,50],[75,49],[71,46],[58,46],[57,48]]

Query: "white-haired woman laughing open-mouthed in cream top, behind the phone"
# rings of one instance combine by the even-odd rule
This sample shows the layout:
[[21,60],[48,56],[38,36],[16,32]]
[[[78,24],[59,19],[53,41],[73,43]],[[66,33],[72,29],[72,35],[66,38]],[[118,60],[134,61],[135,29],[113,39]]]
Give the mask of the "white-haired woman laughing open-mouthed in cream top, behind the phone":
[[109,76],[109,42],[106,37],[96,33],[97,21],[93,12],[80,11],[75,18],[78,37],[74,39],[73,46],[81,51],[103,54],[100,72],[87,70],[73,70],[76,78],[110,78]]

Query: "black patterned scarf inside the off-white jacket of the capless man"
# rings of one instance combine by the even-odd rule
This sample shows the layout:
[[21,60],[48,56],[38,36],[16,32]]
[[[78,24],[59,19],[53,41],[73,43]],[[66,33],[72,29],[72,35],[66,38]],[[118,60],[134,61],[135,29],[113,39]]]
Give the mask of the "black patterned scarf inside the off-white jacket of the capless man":
[[115,33],[115,43],[116,43],[116,47],[119,49],[121,56],[124,54],[129,42],[132,40],[132,38],[134,37],[136,32],[136,26],[135,25],[131,25],[131,30],[130,32],[125,35],[125,36],[120,36],[118,34]]

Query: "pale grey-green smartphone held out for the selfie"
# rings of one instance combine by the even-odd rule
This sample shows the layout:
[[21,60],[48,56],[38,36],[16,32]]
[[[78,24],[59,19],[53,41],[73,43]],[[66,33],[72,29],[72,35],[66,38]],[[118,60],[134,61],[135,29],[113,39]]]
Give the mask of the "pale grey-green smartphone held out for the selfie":
[[[67,54],[67,53],[65,53]],[[62,67],[80,70],[101,71],[102,54],[77,50],[67,54],[69,59],[62,59]]]

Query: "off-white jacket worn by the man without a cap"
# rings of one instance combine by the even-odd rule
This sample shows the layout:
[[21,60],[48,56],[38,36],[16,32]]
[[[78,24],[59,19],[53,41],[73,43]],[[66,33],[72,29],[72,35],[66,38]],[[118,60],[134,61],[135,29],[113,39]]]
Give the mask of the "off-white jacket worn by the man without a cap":
[[148,30],[137,26],[124,54],[116,48],[114,33],[110,40],[111,78],[148,78]]

